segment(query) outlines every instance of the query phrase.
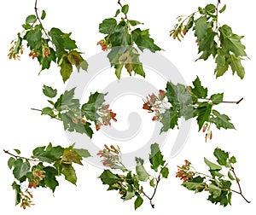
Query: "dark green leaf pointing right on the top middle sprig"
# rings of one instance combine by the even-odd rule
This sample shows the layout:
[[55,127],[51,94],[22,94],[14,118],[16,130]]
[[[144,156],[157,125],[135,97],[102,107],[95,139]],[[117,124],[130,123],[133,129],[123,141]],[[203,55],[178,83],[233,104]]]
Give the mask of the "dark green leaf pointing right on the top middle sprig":
[[143,49],[149,49],[151,52],[161,50],[159,46],[154,44],[154,39],[150,38],[149,30],[141,30],[137,28],[131,32],[133,41],[137,44],[138,48],[143,51]]

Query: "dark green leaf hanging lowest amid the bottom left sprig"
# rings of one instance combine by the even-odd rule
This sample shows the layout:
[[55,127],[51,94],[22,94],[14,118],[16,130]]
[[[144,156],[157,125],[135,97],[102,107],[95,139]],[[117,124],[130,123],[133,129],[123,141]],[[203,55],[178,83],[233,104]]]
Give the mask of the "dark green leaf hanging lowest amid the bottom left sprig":
[[54,167],[47,166],[44,168],[44,183],[52,192],[55,192],[55,188],[59,185],[58,181],[56,180],[56,176],[58,175],[58,171]]

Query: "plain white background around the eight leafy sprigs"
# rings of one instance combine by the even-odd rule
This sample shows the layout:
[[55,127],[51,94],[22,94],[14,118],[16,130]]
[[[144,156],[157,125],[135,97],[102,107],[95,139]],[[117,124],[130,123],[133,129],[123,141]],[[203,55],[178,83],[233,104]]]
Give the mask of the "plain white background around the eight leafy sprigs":
[[[213,0],[207,1],[207,3],[216,2]],[[210,93],[224,92],[224,100],[237,101],[244,97],[239,105],[223,104],[218,109],[221,113],[230,116],[236,130],[218,131],[213,129],[212,141],[205,143],[204,136],[201,132],[197,132],[197,125],[194,121],[183,151],[177,154],[175,158],[167,159],[171,170],[170,178],[160,183],[154,198],[155,209],[152,209],[148,200],[145,199],[143,206],[136,212],[134,212],[132,200],[122,202],[117,192],[107,192],[107,186],[102,185],[100,179],[97,178],[102,170],[90,166],[86,162],[82,167],[76,166],[79,177],[77,186],[73,186],[73,184],[60,178],[60,186],[55,190],[55,196],[51,194],[50,190],[34,190],[33,201],[36,205],[24,211],[20,206],[15,206],[15,192],[11,188],[13,176],[7,166],[9,156],[0,152],[1,214],[54,214],[56,212],[63,215],[71,213],[86,214],[88,212],[95,212],[96,214],[194,214],[195,212],[198,215],[206,213],[219,215],[253,214],[256,209],[253,162],[255,155],[255,126],[253,123],[255,121],[254,73],[256,57],[255,35],[253,34],[253,14],[255,13],[253,1],[222,1],[223,5],[227,3],[227,10],[219,18],[220,23],[230,25],[235,33],[245,36],[242,43],[247,46],[247,55],[250,60],[243,61],[246,69],[246,76],[243,80],[237,76],[233,77],[230,71],[224,77],[216,79],[213,76],[215,64],[212,59],[195,62],[197,49],[192,32],[183,39],[183,43],[174,41],[169,37],[169,31],[176,23],[177,15],[189,15],[198,6],[205,6],[206,1],[140,0],[122,1],[122,3],[129,3],[129,17],[131,19],[143,21],[145,23],[144,27],[150,28],[155,43],[165,49],[161,54],[172,61],[188,84],[191,84],[198,75],[202,84],[208,87]],[[40,70],[38,62],[32,61],[27,56],[27,51],[22,55],[21,61],[9,61],[7,57],[10,41],[16,37],[17,32],[21,31],[21,24],[24,23],[26,16],[34,13],[34,1],[9,0],[1,4],[0,149],[2,151],[3,149],[20,148],[22,154],[29,156],[33,148],[46,145],[49,142],[53,142],[54,145],[67,146],[67,137],[61,123],[46,116],[40,116],[39,113],[32,112],[30,109],[43,108],[46,105],[42,94],[43,84],[52,85],[60,92],[65,90],[66,85],[61,81],[59,68],[53,66],[49,71],[44,71],[38,76]],[[96,46],[96,42],[102,38],[102,34],[98,32],[98,24],[103,19],[112,17],[118,8],[117,1],[90,1],[88,3],[80,0],[38,1],[38,9],[45,9],[47,13],[44,20],[46,28],[50,29],[50,27],[55,26],[63,32],[73,32],[72,38],[77,41],[79,48],[85,52],[85,58],[96,55],[100,51],[100,47]],[[113,78],[113,70],[109,70],[109,79]],[[108,84],[108,79],[104,78],[104,83],[106,82]],[[165,85],[160,88],[164,89]],[[124,100],[121,102],[124,106]],[[131,105],[129,102],[131,101],[127,99],[125,107]],[[139,102],[137,108],[142,107],[143,102]],[[129,111],[129,108],[121,108],[118,102],[115,108],[114,111],[119,116],[127,114],[127,111]],[[151,122],[152,115],[144,114],[142,117],[145,122]],[[125,129],[126,122],[122,122],[122,119],[120,117],[119,125],[123,125],[123,129]],[[144,123],[143,126],[147,126],[148,123]],[[101,135],[101,133],[97,134],[101,137],[97,140],[101,141],[99,144],[104,144],[105,139]],[[171,140],[172,131],[170,131],[169,136]],[[140,137],[137,144],[143,145],[145,139],[147,137]],[[171,141],[168,143],[172,144]],[[125,142],[121,142],[119,146],[129,150]],[[241,179],[244,195],[247,196],[248,200],[252,200],[251,204],[247,204],[240,195],[234,194],[232,206],[224,208],[212,205],[207,200],[207,194],[195,195],[180,186],[181,181],[175,178],[177,165],[182,165],[185,159],[190,160],[197,169],[207,171],[207,167],[203,164],[203,157],[206,156],[209,160],[213,160],[212,152],[217,146],[230,151],[231,154],[236,156],[238,160],[236,173]],[[165,152],[165,154],[168,156],[169,153]],[[236,185],[234,189],[237,189]]]

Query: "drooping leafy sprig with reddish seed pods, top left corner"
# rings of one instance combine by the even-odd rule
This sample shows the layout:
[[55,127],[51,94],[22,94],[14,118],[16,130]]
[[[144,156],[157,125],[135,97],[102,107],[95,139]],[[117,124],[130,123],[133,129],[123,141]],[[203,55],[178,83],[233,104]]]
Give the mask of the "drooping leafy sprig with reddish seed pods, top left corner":
[[38,16],[38,9],[35,7],[36,15],[28,15],[24,31],[18,33],[18,37],[12,41],[9,52],[9,59],[20,59],[23,54],[23,43],[30,49],[29,56],[37,58],[41,65],[41,71],[49,69],[51,62],[61,67],[61,77],[64,82],[73,73],[73,65],[78,69],[87,70],[88,63],[78,51],[76,41],[70,38],[70,33],[61,32],[59,28],[52,27],[49,32],[44,29],[42,20],[46,13],[43,10],[41,17]]

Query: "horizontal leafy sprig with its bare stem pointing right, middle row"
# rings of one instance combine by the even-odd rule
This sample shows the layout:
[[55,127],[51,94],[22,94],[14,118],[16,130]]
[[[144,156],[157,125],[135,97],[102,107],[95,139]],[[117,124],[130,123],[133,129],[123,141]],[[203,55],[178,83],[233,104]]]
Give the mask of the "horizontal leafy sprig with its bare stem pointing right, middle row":
[[201,85],[201,80],[197,77],[192,86],[167,82],[166,90],[160,90],[158,96],[153,93],[143,101],[143,109],[154,113],[152,120],[162,123],[160,132],[174,129],[176,126],[178,128],[179,118],[196,118],[199,131],[206,132],[207,141],[207,138],[212,139],[212,124],[218,129],[235,129],[230,123],[230,118],[213,107],[220,103],[239,104],[241,101],[242,98],[237,102],[224,101],[224,93],[208,97],[208,89]]

